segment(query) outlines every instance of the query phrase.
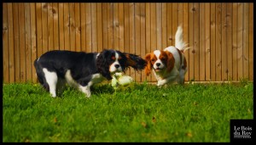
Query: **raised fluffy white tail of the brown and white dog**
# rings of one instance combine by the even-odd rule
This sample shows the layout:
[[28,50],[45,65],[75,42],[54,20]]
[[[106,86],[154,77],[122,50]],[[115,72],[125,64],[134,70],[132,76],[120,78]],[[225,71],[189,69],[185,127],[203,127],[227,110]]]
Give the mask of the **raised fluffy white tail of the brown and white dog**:
[[188,44],[183,42],[183,28],[181,25],[179,25],[175,34],[175,47],[184,53],[187,49],[189,49],[189,47],[186,47],[187,45]]

